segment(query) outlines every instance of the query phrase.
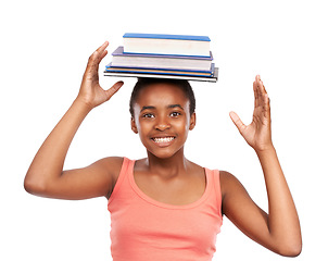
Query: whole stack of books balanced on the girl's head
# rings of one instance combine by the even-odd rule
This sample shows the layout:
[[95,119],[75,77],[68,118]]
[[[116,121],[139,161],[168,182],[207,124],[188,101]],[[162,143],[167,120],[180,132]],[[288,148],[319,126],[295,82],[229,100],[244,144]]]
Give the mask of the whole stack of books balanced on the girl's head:
[[217,80],[206,36],[131,34],[112,53],[105,76]]

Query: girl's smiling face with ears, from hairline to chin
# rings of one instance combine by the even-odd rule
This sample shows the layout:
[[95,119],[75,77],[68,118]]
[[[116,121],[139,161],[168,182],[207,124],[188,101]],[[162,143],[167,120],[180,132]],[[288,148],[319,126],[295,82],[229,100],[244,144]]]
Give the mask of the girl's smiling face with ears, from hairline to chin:
[[154,84],[144,87],[134,105],[131,128],[138,133],[149,153],[169,158],[180,152],[188,133],[194,127],[189,100],[177,86]]

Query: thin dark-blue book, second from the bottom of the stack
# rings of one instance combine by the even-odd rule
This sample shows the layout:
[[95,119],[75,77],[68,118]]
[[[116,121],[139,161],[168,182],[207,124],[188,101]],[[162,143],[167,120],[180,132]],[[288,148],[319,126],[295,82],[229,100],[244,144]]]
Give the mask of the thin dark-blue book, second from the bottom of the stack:
[[203,76],[212,77],[214,74],[214,63],[211,70],[207,71],[190,71],[190,70],[172,70],[172,69],[151,69],[151,67],[126,67],[126,66],[113,66],[111,63],[106,65],[105,72],[122,72],[122,73],[146,73],[146,74],[167,74],[167,75],[190,75],[190,76]]

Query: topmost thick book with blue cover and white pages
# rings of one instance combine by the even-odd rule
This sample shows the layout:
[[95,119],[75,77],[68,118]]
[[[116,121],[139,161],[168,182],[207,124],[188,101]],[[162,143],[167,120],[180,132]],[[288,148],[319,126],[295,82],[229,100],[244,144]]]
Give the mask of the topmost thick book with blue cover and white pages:
[[124,52],[210,57],[207,36],[126,33]]

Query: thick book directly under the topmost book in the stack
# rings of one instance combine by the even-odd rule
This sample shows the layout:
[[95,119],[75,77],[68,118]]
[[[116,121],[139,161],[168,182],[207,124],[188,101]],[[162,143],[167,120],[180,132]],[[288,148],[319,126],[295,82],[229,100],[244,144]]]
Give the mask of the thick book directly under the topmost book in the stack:
[[126,53],[121,46],[112,53],[111,66],[129,67],[161,67],[171,70],[211,70],[213,61],[212,52],[210,57],[186,57],[166,54],[139,54]]

